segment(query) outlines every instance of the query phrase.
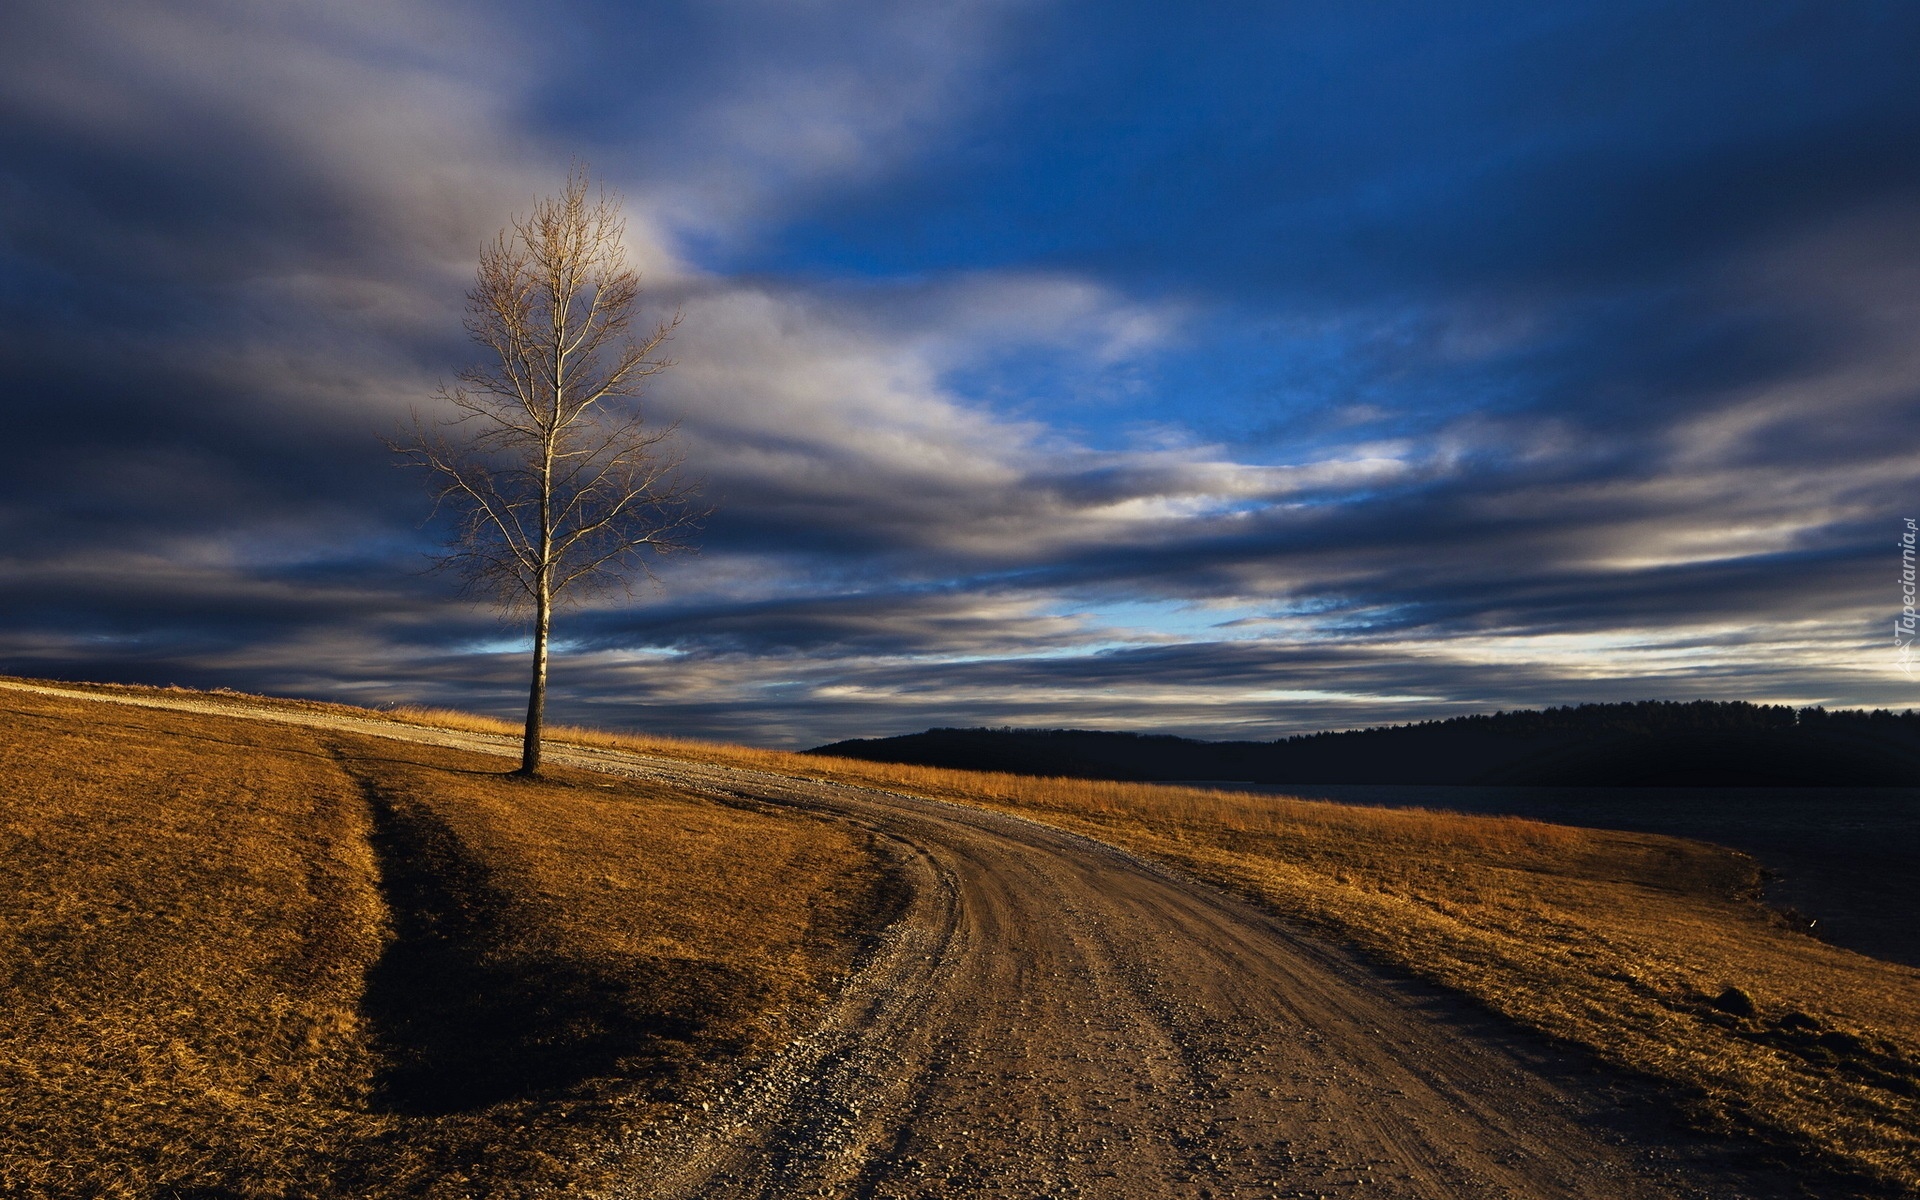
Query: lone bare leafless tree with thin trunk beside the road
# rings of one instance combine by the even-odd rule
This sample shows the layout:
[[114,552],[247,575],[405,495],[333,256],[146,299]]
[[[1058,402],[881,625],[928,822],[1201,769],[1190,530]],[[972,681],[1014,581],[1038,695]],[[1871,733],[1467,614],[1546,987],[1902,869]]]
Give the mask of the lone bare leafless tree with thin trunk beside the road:
[[467,294],[467,332],[490,355],[434,394],[451,407],[440,428],[417,415],[394,445],[457,515],[442,564],[532,616],[524,776],[540,772],[555,605],[653,578],[647,557],[685,549],[703,515],[666,451],[672,426],[647,424],[637,403],[672,367],[659,351],[680,317],[634,334],[624,234],[616,200],[589,200],[586,171],[515,217],[482,248]]

